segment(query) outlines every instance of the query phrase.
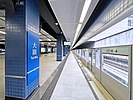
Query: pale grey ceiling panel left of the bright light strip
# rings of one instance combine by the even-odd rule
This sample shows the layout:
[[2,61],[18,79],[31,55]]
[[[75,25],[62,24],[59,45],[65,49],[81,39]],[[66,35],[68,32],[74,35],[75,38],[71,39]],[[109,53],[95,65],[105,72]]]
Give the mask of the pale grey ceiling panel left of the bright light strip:
[[84,2],[85,0],[49,0],[67,40],[73,40]]

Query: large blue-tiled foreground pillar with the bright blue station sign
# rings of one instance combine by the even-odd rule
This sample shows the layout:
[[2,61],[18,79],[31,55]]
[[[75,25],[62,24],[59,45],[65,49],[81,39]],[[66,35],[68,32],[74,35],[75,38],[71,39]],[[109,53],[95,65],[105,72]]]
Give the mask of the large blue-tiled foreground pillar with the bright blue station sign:
[[6,96],[26,99],[39,85],[39,0],[6,14]]

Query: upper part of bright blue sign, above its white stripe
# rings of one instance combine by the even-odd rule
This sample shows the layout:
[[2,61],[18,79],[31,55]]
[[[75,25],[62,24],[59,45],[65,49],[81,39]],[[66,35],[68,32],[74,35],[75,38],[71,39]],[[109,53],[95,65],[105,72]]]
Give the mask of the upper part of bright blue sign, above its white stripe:
[[28,72],[39,67],[39,35],[28,32]]

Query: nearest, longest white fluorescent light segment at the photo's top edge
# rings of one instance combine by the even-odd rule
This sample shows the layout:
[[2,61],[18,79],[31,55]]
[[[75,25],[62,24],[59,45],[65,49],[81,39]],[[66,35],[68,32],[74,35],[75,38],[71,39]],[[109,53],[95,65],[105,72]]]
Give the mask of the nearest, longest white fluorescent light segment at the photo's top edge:
[[87,11],[89,9],[89,6],[91,4],[91,1],[92,0],[85,0],[84,7],[83,7],[83,10],[82,10],[82,13],[81,13],[81,16],[80,16],[80,20],[79,20],[80,23],[83,23],[83,21],[85,19],[85,16],[87,14]]

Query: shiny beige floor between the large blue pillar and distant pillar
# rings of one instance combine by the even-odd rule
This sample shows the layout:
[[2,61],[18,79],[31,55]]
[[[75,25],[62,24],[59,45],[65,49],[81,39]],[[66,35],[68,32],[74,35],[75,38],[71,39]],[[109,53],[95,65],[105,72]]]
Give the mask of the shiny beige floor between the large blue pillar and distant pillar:
[[46,82],[60,63],[61,61],[56,61],[56,53],[42,54],[40,56],[40,86]]

